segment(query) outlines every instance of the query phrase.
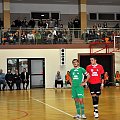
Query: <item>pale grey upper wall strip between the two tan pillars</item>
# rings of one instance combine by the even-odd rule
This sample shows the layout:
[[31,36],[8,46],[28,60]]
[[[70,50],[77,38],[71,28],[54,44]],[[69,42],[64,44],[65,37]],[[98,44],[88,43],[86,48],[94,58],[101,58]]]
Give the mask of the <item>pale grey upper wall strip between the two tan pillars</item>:
[[32,11],[58,11],[61,14],[78,14],[76,5],[57,4],[11,4],[11,13],[31,13]]

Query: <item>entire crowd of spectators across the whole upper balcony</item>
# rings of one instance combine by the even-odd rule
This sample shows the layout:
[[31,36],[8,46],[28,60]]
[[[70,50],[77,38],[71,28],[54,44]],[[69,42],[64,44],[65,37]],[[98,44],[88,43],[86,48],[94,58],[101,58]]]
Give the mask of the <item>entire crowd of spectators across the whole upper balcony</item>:
[[[2,26],[2,22],[1,26]],[[85,40],[85,42],[112,42],[114,36],[120,35],[119,23],[114,27],[109,27],[107,22],[98,23],[85,31],[79,28],[78,17],[68,22],[68,27],[59,20],[38,20],[29,21],[24,18],[17,18],[8,30],[2,30],[2,44],[71,44],[74,38]]]

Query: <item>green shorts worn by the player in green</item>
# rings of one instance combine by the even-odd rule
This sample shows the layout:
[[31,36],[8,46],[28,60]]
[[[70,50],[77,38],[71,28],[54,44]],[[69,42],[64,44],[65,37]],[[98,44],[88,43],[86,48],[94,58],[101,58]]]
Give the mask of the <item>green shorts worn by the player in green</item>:
[[72,98],[84,98],[84,87],[72,87]]

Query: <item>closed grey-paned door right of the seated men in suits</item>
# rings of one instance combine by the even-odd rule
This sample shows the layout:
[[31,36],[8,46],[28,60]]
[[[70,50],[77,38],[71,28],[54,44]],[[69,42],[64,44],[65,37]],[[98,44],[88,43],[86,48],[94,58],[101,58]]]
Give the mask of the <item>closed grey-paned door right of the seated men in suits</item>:
[[45,87],[44,59],[31,59],[31,88]]

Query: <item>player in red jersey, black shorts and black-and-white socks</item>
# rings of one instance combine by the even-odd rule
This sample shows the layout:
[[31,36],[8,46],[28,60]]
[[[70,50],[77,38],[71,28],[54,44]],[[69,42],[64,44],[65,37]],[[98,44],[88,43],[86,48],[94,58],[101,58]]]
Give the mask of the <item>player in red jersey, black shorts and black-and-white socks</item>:
[[103,89],[104,86],[104,69],[102,65],[97,64],[97,59],[95,57],[91,57],[90,62],[91,64],[86,67],[86,71],[89,73],[90,79],[86,79],[82,85],[85,85],[88,81],[93,101],[94,117],[98,118],[99,96],[101,94],[101,89]]

